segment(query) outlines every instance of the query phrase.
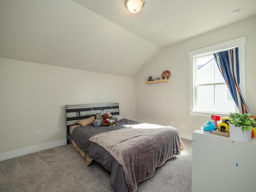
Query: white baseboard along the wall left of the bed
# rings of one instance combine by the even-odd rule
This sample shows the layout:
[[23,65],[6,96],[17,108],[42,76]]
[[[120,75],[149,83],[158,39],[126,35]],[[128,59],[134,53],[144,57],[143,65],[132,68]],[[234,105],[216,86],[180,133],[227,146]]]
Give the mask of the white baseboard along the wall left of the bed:
[[38,151],[42,151],[42,150],[46,150],[46,149],[50,149],[50,148],[54,148],[54,147],[58,147],[58,146],[62,146],[62,145],[65,145],[66,143],[67,143],[67,140],[63,139],[63,140],[58,140],[55,142],[42,144],[42,145],[36,145],[36,146],[28,147],[28,148],[15,150],[15,151],[1,153],[0,161],[18,157],[18,156],[22,156],[22,155],[26,155],[26,154],[30,154],[30,153],[34,153],[34,152],[38,152]]

